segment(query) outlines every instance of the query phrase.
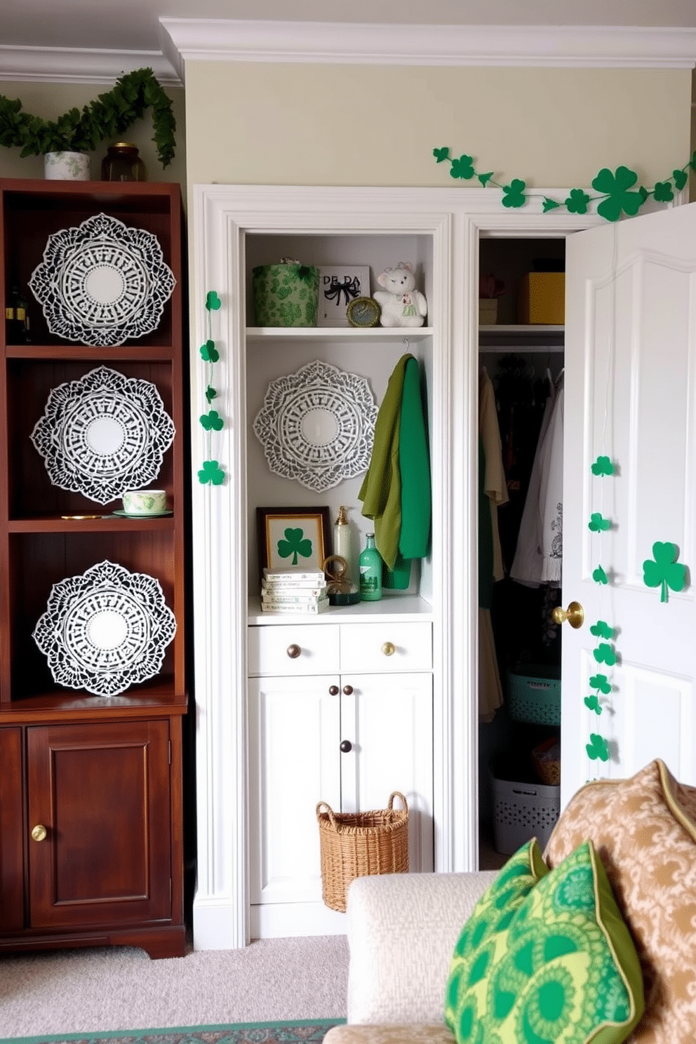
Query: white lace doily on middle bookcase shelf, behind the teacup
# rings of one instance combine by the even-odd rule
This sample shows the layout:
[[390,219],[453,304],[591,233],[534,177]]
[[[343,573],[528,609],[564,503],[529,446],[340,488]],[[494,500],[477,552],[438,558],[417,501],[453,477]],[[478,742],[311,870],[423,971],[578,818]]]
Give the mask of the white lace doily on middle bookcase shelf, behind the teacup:
[[174,423],[151,381],[98,366],[51,390],[30,437],[53,485],[105,504],[158,477]]

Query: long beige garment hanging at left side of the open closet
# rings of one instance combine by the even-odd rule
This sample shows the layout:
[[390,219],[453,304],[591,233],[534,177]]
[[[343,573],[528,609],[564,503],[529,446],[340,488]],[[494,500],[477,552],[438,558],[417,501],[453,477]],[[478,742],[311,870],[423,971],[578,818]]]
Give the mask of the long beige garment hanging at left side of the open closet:
[[493,585],[503,579],[498,508],[507,503],[507,484],[493,382],[479,376],[479,719],[491,721],[503,690],[490,619]]

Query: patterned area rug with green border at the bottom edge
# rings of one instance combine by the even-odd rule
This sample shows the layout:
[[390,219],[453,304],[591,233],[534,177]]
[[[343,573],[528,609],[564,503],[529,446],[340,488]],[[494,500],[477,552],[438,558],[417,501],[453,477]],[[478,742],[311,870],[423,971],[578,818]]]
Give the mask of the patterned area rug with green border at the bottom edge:
[[170,1026],[165,1029],[116,1029],[103,1034],[54,1037],[2,1037],[0,1044],[320,1044],[332,1026],[345,1019],[307,1022],[244,1022],[226,1026]]

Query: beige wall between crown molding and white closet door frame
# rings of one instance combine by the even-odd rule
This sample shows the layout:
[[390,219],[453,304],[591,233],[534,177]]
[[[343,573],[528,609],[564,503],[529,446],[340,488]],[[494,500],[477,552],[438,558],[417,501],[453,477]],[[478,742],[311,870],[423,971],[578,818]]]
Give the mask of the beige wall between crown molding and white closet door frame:
[[448,145],[530,187],[620,164],[651,187],[690,157],[691,90],[690,70],[190,62],[189,185],[452,187]]

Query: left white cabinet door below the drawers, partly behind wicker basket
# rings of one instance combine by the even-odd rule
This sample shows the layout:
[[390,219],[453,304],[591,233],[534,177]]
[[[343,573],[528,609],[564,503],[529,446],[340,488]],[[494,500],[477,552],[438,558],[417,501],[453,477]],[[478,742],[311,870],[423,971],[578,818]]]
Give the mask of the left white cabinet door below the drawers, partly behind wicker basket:
[[251,903],[321,901],[316,805],[340,808],[338,693],[337,674],[249,679]]

